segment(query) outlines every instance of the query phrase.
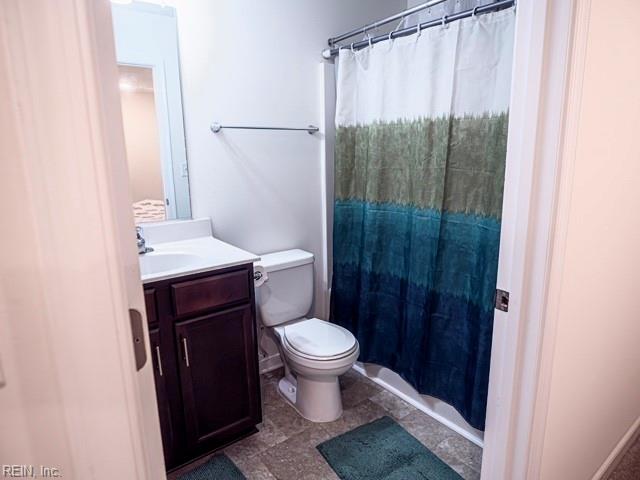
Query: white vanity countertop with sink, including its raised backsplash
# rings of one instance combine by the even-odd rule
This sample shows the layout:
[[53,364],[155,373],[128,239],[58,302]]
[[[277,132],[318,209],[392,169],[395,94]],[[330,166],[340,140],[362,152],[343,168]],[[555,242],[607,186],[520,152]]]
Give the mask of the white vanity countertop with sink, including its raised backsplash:
[[214,238],[209,219],[143,225],[142,235],[153,249],[139,257],[142,283],[260,260],[251,252]]

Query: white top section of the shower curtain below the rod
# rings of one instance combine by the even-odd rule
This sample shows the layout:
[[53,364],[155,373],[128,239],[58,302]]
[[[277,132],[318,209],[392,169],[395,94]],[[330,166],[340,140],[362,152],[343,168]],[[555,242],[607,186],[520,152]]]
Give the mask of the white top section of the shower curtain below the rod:
[[336,125],[507,111],[514,26],[510,8],[341,49]]

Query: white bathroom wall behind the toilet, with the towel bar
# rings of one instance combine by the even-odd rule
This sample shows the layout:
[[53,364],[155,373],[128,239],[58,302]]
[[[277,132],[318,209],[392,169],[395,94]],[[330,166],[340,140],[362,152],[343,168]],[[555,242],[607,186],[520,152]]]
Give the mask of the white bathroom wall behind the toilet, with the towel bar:
[[[255,253],[303,248],[323,258],[323,134],[233,131],[323,125],[326,40],[406,8],[406,0],[173,0],[177,10],[193,216]],[[323,302],[316,315],[325,316]]]

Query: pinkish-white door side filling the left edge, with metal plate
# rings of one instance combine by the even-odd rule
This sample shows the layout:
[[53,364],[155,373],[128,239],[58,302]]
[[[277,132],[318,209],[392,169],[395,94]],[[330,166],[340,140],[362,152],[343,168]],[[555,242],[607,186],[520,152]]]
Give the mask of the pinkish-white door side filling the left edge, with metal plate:
[[2,474],[165,478],[109,2],[0,2],[0,98]]

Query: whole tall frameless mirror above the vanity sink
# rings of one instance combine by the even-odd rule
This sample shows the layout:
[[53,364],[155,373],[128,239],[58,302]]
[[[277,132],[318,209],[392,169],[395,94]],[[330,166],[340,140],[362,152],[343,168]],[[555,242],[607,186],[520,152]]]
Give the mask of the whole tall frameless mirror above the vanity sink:
[[113,4],[136,223],[191,218],[175,10]]

